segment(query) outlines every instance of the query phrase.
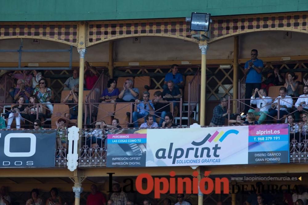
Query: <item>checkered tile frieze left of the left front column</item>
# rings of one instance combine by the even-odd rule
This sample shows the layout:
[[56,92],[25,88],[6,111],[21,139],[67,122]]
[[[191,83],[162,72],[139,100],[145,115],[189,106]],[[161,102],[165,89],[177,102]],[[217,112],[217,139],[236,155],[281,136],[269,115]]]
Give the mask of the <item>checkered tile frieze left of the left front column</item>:
[[[5,25],[0,24],[0,39],[20,38],[41,38],[46,40],[59,41],[62,43],[77,45],[78,25],[51,25],[51,24],[28,24],[28,25]],[[63,42],[64,41],[64,42]]]

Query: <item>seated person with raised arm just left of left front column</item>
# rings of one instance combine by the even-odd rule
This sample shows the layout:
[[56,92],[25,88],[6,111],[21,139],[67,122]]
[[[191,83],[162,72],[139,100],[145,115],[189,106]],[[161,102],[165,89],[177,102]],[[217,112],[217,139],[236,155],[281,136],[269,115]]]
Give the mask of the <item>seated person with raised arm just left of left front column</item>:
[[[71,88],[71,92],[67,95],[67,97],[63,99],[63,103],[69,103],[67,104],[70,108],[69,113],[65,113],[65,118],[68,120],[77,119],[78,117],[78,89],[79,84],[76,84]],[[72,96],[72,100],[68,100],[70,96]]]

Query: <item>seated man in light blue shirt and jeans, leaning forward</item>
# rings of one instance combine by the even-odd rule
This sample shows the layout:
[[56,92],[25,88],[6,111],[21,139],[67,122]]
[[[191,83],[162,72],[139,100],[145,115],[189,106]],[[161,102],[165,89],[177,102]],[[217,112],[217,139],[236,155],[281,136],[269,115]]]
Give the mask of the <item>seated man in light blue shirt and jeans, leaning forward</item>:
[[[147,116],[150,114],[150,112],[154,111],[154,105],[151,100],[149,100],[150,93],[148,91],[143,92],[143,101],[139,103],[139,100],[136,99],[135,102],[137,103],[136,106],[134,106],[134,112],[133,112],[133,124],[135,128],[138,128],[138,119]],[[144,102],[144,103],[142,103]],[[144,119],[145,121],[145,119]],[[156,119],[153,118],[153,121],[156,122]]]

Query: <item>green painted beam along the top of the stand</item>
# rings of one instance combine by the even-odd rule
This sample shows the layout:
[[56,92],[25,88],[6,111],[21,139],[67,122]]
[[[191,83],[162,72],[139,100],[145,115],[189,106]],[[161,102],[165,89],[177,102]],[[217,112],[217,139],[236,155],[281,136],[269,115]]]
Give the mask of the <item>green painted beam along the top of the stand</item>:
[[308,11],[307,0],[1,0],[0,22],[84,21]]

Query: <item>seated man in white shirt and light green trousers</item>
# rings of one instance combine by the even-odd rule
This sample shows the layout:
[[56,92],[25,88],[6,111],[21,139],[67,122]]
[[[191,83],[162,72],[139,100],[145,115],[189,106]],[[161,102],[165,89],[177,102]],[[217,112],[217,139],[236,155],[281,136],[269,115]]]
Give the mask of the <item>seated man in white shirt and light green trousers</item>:
[[[256,94],[259,94],[259,97],[256,98]],[[260,99],[260,100],[257,100]],[[253,96],[251,96],[250,103],[257,104],[257,108],[250,109],[248,112],[252,112],[255,116],[259,115],[260,118],[258,120],[258,124],[262,124],[262,122],[266,119],[266,115],[269,114],[268,110],[270,109],[271,102],[273,100],[267,96],[266,89],[255,89],[253,92]]]

